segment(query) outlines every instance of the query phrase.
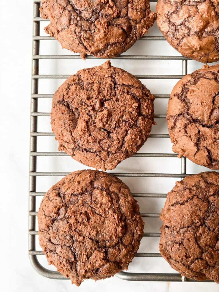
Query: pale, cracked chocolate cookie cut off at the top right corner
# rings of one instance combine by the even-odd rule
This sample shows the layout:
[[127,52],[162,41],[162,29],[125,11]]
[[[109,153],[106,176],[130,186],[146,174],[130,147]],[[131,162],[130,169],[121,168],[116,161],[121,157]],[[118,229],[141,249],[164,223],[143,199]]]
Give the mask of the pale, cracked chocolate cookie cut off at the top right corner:
[[203,63],[219,60],[217,0],[158,0],[157,25],[168,43],[185,57]]

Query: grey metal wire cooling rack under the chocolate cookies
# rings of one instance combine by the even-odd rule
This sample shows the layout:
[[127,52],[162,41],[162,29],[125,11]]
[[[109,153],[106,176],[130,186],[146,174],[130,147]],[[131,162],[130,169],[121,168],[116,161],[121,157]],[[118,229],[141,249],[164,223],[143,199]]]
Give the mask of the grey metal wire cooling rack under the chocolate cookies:
[[[151,0],[151,2],[157,2]],[[79,55],[39,55],[40,41],[55,39],[50,36],[40,36],[40,22],[45,21],[40,17],[40,0],[33,1],[33,45],[32,45],[32,92],[31,92],[31,117],[30,117],[30,165],[29,165],[29,259],[34,269],[39,274],[52,279],[66,279],[58,272],[54,272],[43,267],[38,259],[42,251],[36,250],[36,196],[44,196],[44,192],[36,192],[37,176],[65,176],[64,172],[36,172],[37,156],[67,156],[60,152],[37,152],[38,136],[54,136],[53,133],[37,132],[37,117],[50,116],[48,112],[38,112],[38,98],[52,98],[52,94],[38,94],[38,81],[44,79],[66,79],[69,75],[39,75],[40,59],[79,59]],[[139,41],[165,40],[163,36],[144,36]],[[87,56],[88,59],[95,59]],[[139,79],[181,79],[187,74],[187,58],[183,56],[142,56],[142,55],[122,55],[117,57],[122,60],[182,60],[182,75],[135,75]],[[155,98],[169,98],[169,95],[155,95]],[[156,118],[165,118],[166,115],[155,115]],[[151,134],[151,138],[169,138],[168,134]],[[160,153],[137,153],[134,157],[177,157],[177,154]],[[181,158],[180,173],[113,173],[119,177],[162,177],[162,178],[184,178],[186,175],[186,158]],[[165,198],[166,194],[134,193],[134,197],[145,198]],[[143,217],[159,217],[159,214],[142,213]],[[145,232],[144,237],[159,237],[159,232]],[[161,257],[160,253],[137,253],[136,257]],[[194,281],[182,277],[180,274],[166,273],[129,273],[120,272],[117,277],[128,281]]]

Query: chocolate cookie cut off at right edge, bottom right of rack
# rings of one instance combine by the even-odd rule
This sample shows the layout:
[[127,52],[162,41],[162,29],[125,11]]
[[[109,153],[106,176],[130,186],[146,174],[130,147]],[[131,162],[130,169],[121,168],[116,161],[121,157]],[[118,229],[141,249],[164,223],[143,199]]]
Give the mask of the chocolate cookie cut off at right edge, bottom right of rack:
[[160,219],[160,253],[183,276],[219,283],[219,173],[177,182]]

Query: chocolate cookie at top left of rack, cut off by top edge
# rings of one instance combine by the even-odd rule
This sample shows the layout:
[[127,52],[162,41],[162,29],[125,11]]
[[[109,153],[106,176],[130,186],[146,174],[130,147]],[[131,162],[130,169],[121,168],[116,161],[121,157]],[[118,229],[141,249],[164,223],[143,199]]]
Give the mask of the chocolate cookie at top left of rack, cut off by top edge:
[[84,58],[114,58],[127,51],[154,24],[149,0],[41,0],[45,32]]

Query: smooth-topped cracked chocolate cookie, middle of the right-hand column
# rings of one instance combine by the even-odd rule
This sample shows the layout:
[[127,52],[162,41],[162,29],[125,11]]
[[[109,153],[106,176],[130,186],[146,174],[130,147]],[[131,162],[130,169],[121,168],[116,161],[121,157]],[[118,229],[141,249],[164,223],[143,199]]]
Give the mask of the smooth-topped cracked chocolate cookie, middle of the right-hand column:
[[219,169],[219,65],[204,65],[175,85],[167,123],[178,157]]

